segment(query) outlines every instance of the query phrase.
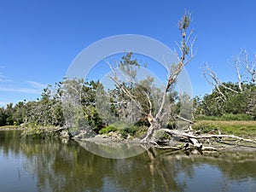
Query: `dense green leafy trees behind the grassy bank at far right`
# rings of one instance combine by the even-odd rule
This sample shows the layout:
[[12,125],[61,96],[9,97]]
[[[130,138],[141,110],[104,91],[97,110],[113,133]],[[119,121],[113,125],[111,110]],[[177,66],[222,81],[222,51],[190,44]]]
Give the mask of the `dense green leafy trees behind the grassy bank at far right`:
[[[238,84],[224,83],[232,90],[240,89]],[[249,114],[255,118],[256,87],[254,84],[241,84],[241,92],[234,92],[221,88],[222,94],[217,88],[212,94],[205,95],[197,105],[195,113],[207,116],[221,116],[224,113]],[[224,97],[225,99],[223,99]]]

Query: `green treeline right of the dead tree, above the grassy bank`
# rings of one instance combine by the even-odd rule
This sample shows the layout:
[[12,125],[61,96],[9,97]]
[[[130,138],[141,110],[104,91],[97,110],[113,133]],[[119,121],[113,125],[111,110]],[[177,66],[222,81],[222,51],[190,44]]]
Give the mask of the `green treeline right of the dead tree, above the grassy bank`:
[[[195,97],[195,117],[215,119],[256,119],[255,84],[224,83],[203,98]],[[212,118],[214,119],[214,118]]]

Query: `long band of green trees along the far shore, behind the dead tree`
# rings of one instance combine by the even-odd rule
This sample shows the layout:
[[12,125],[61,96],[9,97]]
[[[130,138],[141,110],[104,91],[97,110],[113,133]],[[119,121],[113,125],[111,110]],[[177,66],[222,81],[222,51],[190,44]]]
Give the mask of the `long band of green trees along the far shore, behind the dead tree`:
[[[77,116],[73,118],[73,126],[81,124],[81,119],[83,119],[87,125],[98,132],[101,125],[110,125],[116,119],[122,118],[131,122],[140,121],[143,122],[143,125],[147,125],[148,111],[152,110],[154,113],[154,108],[157,108],[154,97],[161,95],[159,88],[152,87],[153,81],[154,79],[148,78],[143,79],[140,84],[124,83],[122,86],[125,86],[126,90],[129,90],[134,96],[131,98],[124,94],[118,86],[112,90],[104,90],[99,81],[64,79],[62,82],[46,87],[41,98],[36,101],[22,101],[15,105],[9,103],[6,108],[0,108],[0,125],[67,126],[67,119],[63,111],[65,94],[79,97],[81,111],[71,113],[72,116]],[[148,95],[143,94],[145,91],[148,92]],[[150,94],[153,91],[154,94]],[[183,118],[190,119],[191,114],[189,113],[193,113],[192,118],[194,119],[256,119],[255,84],[241,84],[241,88],[239,88],[238,84],[224,83],[224,86],[213,89],[211,94],[202,98],[195,96],[194,99],[186,95],[178,96],[177,91],[170,90],[168,98],[168,102],[172,103],[171,112],[180,114]],[[189,110],[189,104],[187,105],[188,109],[181,110],[181,104],[183,104],[182,108],[186,107],[184,101],[189,103],[192,100],[194,101],[193,111]],[[151,101],[150,105],[148,101]],[[132,102],[140,104],[140,114],[137,115],[134,112]],[[99,109],[104,114],[100,115]]]

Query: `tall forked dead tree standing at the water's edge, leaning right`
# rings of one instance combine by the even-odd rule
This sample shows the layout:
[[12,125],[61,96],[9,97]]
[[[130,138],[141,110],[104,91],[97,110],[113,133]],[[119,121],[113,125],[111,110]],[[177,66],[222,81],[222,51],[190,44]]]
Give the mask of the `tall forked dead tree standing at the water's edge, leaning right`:
[[[154,103],[152,101],[152,94],[149,89],[143,89],[142,95],[144,100],[148,102],[148,110],[143,110],[141,103],[137,100],[137,97],[134,96],[132,91],[125,86],[124,79],[126,82],[131,83],[131,79],[135,79],[136,77],[136,69],[137,61],[136,60],[125,60],[124,62],[120,62],[119,65],[116,63],[107,61],[108,66],[111,68],[113,76],[110,78],[113,80],[114,84],[122,90],[125,96],[129,97],[131,102],[137,107],[137,110],[140,113],[144,113],[147,116],[148,123],[150,126],[148,127],[148,131],[146,136],[143,138],[143,143],[155,142],[154,132],[160,130],[161,122],[166,119],[167,116],[172,116],[172,118],[179,118],[191,122],[183,117],[180,117],[174,113],[172,113],[171,108],[166,108],[166,105],[169,105],[169,101],[167,101],[170,92],[172,91],[174,85],[177,83],[178,75],[183,71],[183,68],[194,58],[195,51],[193,49],[193,45],[195,43],[195,38],[192,37],[193,30],[189,30],[191,22],[191,14],[185,13],[180,21],[178,21],[178,27],[181,35],[181,42],[177,44],[179,52],[174,50],[177,56],[177,63],[171,64],[168,66],[166,64],[167,71],[167,80],[164,88],[160,90],[161,96],[158,97],[158,102]],[[130,54],[130,53],[129,53]],[[131,56],[131,55],[127,56]],[[119,67],[121,70],[117,70]],[[151,89],[152,90],[152,89]],[[169,117],[168,117],[169,118]]]

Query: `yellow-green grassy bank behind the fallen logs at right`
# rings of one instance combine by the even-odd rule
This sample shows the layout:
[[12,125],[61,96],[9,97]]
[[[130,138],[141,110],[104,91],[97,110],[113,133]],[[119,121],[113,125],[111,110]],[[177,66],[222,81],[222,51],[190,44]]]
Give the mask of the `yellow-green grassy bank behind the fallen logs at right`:
[[212,134],[218,134],[219,130],[222,134],[256,138],[256,121],[197,120],[193,129]]

